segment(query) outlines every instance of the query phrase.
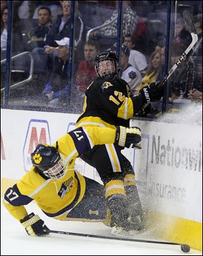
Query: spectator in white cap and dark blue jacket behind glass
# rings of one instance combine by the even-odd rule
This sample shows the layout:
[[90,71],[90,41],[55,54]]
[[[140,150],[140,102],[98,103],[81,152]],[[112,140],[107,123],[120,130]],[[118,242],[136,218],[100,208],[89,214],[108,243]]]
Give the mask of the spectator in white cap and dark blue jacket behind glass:
[[58,45],[56,48],[58,56],[55,56],[55,69],[51,72],[51,78],[43,90],[48,106],[59,106],[62,104],[62,99],[68,91],[67,68],[70,39],[64,37],[60,41],[56,40],[55,43]]

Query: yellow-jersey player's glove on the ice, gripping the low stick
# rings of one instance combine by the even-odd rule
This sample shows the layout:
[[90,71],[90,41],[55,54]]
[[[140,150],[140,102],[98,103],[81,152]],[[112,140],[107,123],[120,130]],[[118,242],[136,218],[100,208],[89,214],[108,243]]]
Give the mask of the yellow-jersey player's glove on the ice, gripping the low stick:
[[29,236],[43,236],[48,234],[44,221],[34,213],[30,213],[23,219],[20,219],[20,223],[22,223]]

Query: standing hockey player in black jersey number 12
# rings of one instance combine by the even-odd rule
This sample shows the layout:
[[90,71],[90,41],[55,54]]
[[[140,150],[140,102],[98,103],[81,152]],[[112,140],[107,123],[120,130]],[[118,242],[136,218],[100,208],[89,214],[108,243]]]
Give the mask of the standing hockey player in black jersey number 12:
[[[163,89],[158,84],[143,87],[131,95],[129,85],[117,76],[119,59],[112,51],[95,58],[97,79],[85,92],[83,113],[76,126],[99,126],[116,129],[129,127],[132,116],[144,112],[145,105],[160,100]],[[81,158],[95,167],[106,188],[106,200],[111,213],[110,225],[118,230],[142,230],[143,211],[135,183],[135,173],[129,160],[116,144],[95,146]]]

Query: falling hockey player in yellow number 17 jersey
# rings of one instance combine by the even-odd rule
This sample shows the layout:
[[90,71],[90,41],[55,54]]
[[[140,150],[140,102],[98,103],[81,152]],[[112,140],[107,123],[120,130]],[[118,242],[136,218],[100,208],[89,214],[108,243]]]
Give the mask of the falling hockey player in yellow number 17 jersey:
[[79,127],[60,137],[53,146],[39,144],[31,154],[30,171],[7,189],[3,205],[29,235],[47,234],[44,221],[34,213],[28,214],[24,207],[32,200],[54,219],[105,221],[104,186],[81,175],[74,169],[74,162],[97,144],[116,143],[129,148],[140,141],[137,127]]

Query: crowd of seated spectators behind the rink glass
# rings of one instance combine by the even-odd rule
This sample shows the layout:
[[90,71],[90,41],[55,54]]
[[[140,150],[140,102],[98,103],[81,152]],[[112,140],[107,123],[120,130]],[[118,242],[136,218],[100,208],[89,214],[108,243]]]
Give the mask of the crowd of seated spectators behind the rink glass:
[[202,103],[202,1],[1,1],[1,107],[81,113],[107,49],[131,93],[162,81],[191,43],[185,9],[199,40],[167,83],[167,112]]

